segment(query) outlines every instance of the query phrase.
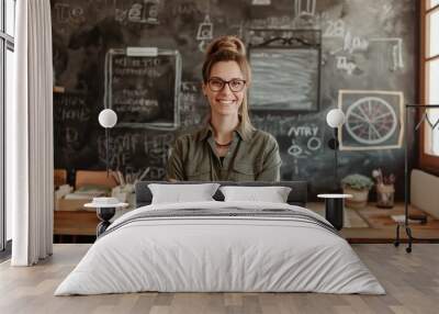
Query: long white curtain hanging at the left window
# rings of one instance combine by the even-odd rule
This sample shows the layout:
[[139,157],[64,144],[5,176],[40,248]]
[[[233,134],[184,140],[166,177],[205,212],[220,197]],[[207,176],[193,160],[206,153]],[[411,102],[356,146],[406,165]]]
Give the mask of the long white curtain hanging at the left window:
[[16,1],[15,104],[7,112],[7,204],[13,266],[52,255],[53,66],[49,0]]

